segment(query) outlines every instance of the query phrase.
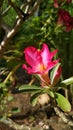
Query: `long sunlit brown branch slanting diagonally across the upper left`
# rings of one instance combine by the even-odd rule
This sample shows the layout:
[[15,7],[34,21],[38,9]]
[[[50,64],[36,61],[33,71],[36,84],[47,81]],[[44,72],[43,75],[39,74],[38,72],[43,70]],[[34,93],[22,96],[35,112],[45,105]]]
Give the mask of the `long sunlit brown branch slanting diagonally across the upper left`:
[[29,13],[29,16],[25,17],[24,20],[23,20],[23,17],[18,17],[18,19],[16,20],[16,23],[15,23],[15,26],[11,29],[11,31],[8,32],[8,34],[4,37],[3,41],[0,44],[0,58],[3,56],[4,51],[5,51],[8,43],[15,36],[15,34],[18,32],[18,30],[21,27],[21,25],[23,24],[23,22],[34,14],[34,12],[37,10],[37,8],[38,8],[38,6],[40,5],[41,2],[42,2],[42,0],[37,0],[35,2],[31,12]]

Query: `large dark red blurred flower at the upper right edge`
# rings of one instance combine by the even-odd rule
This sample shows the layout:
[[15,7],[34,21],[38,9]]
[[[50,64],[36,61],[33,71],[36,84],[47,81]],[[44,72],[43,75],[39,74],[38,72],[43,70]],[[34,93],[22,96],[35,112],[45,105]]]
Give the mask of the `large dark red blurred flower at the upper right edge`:
[[68,11],[60,9],[57,23],[66,26],[66,31],[69,32],[73,28],[73,17]]

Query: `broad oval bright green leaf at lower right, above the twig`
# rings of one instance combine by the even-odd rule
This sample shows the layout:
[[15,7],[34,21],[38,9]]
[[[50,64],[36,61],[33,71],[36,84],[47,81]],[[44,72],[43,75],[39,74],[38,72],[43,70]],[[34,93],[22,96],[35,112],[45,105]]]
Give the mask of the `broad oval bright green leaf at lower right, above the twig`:
[[71,104],[69,101],[61,94],[55,93],[55,99],[58,104],[58,106],[64,111],[64,112],[70,112],[71,111]]

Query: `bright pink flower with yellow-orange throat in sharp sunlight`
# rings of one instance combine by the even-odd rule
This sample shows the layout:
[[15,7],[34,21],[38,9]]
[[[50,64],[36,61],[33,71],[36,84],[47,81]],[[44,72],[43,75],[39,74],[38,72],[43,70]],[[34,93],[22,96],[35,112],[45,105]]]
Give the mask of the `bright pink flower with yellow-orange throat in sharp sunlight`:
[[53,60],[56,53],[57,50],[50,52],[46,44],[43,44],[41,50],[32,46],[27,47],[24,50],[24,55],[28,65],[23,64],[23,69],[26,69],[29,74],[46,74],[59,62],[59,59]]

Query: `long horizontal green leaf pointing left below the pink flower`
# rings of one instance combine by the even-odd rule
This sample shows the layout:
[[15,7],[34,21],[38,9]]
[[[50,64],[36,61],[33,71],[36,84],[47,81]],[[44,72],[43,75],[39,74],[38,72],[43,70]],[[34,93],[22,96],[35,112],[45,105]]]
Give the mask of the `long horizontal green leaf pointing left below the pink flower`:
[[22,92],[26,92],[26,93],[30,93],[30,92],[37,92],[37,91],[41,91],[41,87],[38,87],[36,85],[22,85],[19,88],[19,91]]

